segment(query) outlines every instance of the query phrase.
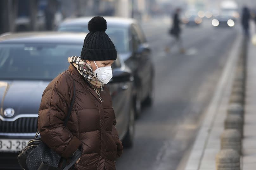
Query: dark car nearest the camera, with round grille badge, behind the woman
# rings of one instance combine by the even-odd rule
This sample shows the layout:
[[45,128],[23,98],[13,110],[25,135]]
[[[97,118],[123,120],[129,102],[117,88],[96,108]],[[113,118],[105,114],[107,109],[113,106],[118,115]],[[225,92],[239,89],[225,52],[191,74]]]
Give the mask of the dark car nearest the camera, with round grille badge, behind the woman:
[[[17,167],[17,151],[34,138],[42,92],[80,56],[86,34],[20,33],[0,37],[0,168]],[[134,135],[134,78],[117,57],[108,83],[120,139],[131,146]]]

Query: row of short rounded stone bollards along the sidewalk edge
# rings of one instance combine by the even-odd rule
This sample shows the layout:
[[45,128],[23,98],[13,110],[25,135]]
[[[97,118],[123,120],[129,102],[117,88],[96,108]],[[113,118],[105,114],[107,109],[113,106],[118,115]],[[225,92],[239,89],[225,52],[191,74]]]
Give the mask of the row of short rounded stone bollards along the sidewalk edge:
[[[218,155],[223,156],[223,152],[227,153],[233,152],[233,154],[228,155],[229,161],[225,163],[220,163],[221,156],[216,156],[216,170],[230,170],[236,169],[240,170],[241,163],[237,161],[242,155],[242,135],[243,135],[243,123],[244,123],[244,101],[245,101],[245,91],[246,91],[246,61],[247,61],[247,44],[248,40],[246,38],[242,41],[242,48],[240,56],[236,65],[236,75],[233,81],[233,90],[230,96],[230,104],[234,105],[240,104],[240,108],[230,108],[227,110],[227,117],[225,120],[225,130],[221,135],[221,151]],[[241,91],[236,91],[234,89],[239,88]],[[241,111],[243,110],[243,111]],[[238,115],[234,115],[237,114]],[[231,150],[230,150],[231,149]],[[235,153],[236,152],[236,153]],[[227,156],[227,155],[226,155]]]

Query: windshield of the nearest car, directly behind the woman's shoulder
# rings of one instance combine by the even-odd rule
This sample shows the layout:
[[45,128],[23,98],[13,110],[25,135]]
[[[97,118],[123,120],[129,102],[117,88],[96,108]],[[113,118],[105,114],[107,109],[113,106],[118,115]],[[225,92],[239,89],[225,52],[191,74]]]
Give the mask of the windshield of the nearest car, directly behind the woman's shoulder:
[[82,46],[70,44],[0,44],[0,79],[51,80],[80,56]]

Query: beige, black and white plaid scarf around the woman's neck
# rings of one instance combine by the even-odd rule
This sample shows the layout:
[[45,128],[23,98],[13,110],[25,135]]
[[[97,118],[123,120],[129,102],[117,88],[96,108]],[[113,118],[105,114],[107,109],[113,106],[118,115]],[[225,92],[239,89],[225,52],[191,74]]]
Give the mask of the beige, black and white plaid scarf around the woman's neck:
[[104,85],[97,80],[96,76],[94,75],[93,68],[81,60],[81,58],[78,56],[68,57],[67,60],[70,64],[73,64],[76,67],[78,72],[93,87],[99,97],[99,100],[102,102],[103,99],[100,97],[100,91],[104,90]]

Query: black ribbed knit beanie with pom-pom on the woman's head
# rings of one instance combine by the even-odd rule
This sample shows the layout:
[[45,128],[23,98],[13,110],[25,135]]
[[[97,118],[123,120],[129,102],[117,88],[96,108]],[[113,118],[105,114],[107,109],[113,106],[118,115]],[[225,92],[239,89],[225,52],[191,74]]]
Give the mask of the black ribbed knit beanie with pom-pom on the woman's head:
[[85,37],[81,59],[94,61],[117,59],[115,45],[106,34],[106,29],[107,21],[101,16],[95,16],[88,22],[90,32]]

